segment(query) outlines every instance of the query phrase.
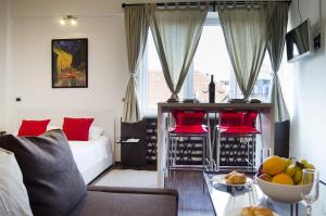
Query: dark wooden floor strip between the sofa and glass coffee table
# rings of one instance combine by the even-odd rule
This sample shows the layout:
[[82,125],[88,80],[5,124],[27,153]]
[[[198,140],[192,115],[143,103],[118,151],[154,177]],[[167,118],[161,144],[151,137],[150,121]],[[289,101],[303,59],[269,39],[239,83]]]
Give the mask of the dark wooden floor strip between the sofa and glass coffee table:
[[[173,188],[173,175],[165,188]],[[179,216],[214,216],[208,190],[203,193],[202,171],[177,170],[175,189],[179,192]]]

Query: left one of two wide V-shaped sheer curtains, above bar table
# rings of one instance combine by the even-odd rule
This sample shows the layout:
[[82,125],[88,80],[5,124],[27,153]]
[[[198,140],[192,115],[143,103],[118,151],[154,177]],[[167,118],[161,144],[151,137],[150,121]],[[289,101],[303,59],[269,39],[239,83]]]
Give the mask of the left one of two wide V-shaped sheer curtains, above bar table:
[[178,93],[192,62],[206,14],[208,7],[148,5],[154,43],[165,81],[172,92],[168,101],[178,101]]

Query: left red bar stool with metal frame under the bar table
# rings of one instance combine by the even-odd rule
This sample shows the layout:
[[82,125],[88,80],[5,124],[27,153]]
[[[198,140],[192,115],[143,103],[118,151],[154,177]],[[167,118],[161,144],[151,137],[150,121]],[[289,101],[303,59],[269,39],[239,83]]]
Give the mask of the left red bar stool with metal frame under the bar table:
[[[204,111],[187,111],[177,110],[172,112],[175,126],[168,130],[168,143],[167,147],[167,169],[174,170],[174,185],[175,185],[175,170],[176,169],[202,169],[204,167],[206,157],[206,144],[209,143],[209,128],[203,125],[206,113]],[[178,154],[179,142],[184,138],[199,137],[202,139],[202,166],[193,165],[178,165],[176,163]],[[184,145],[187,148],[187,145]],[[189,151],[189,150],[187,150]],[[192,151],[192,150],[190,150]],[[180,152],[180,151],[179,151]],[[188,155],[189,156],[189,155]],[[189,157],[188,157],[189,158]]]

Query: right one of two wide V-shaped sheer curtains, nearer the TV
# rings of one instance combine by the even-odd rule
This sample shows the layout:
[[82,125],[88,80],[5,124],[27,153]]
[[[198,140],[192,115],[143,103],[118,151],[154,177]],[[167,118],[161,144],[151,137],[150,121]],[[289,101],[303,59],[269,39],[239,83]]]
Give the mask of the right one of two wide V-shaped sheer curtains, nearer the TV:
[[247,100],[261,69],[268,39],[272,3],[217,7],[237,82]]

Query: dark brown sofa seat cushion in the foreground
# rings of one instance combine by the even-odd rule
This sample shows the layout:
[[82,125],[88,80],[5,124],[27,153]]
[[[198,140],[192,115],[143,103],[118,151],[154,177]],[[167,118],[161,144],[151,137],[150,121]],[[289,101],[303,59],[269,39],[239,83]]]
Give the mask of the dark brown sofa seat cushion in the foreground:
[[178,192],[174,189],[88,187],[87,198],[70,216],[176,216]]

